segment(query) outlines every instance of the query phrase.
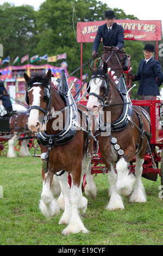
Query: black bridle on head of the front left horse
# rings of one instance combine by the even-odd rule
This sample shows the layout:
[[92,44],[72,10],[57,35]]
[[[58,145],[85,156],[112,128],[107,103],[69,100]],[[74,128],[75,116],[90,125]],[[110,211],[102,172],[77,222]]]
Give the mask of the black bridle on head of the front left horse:
[[[46,124],[49,119],[52,119],[52,115],[49,115],[50,112],[51,112],[51,101],[52,101],[52,87],[51,87],[51,84],[48,84],[48,88],[47,88],[42,83],[35,82],[35,83],[32,84],[32,86],[30,86],[29,89],[31,89],[33,86],[39,86],[39,87],[44,88],[44,90],[43,90],[43,100],[48,103],[48,106],[45,110],[40,106],[33,105],[29,108],[29,113],[32,109],[39,109],[40,111],[42,111],[45,114],[45,117],[43,118],[43,120],[45,121],[45,124]],[[29,89],[27,89],[27,91],[26,91],[26,102],[27,102],[28,105],[29,105],[29,99],[28,99],[28,90]]]

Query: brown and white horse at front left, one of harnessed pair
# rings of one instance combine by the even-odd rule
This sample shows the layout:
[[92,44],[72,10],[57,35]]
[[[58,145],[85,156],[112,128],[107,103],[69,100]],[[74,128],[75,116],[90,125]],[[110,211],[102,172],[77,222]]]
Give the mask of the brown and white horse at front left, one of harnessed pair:
[[[37,133],[41,144],[43,187],[40,209],[48,218],[59,213],[57,200],[53,197],[53,176],[65,170],[66,172],[60,176],[65,211],[59,224],[68,225],[62,234],[68,235],[79,231],[87,233],[89,231],[80,218],[80,213],[84,214],[87,207],[87,199],[82,194],[82,181],[92,159],[93,140],[89,137],[90,142],[87,143],[87,136],[83,131],[83,126],[86,129],[86,123],[83,121],[83,126],[78,125],[82,124],[82,115],[78,110],[76,112],[78,121],[70,121],[71,129],[66,133],[65,125],[69,118],[72,119],[71,107],[76,108],[76,106],[70,104],[71,106],[68,106],[70,115],[66,115],[65,94],[59,93],[52,87],[51,70],[48,70],[45,77],[36,75],[30,78],[24,73],[24,78],[27,84],[26,100],[30,107],[28,127],[32,132]],[[66,99],[71,98],[70,96],[67,95]],[[59,125],[55,126],[57,123]],[[79,129],[76,129],[77,126]],[[68,173],[71,174],[71,188],[67,180]]]

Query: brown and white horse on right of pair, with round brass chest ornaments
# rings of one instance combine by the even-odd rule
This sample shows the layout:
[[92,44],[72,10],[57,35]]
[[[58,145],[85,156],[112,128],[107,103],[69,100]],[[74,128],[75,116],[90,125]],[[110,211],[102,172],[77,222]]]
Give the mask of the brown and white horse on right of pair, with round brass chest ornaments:
[[[87,108],[95,113],[101,109],[106,114],[111,113],[110,136],[98,136],[102,160],[108,168],[110,182],[110,201],[108,210],[124,209],[123,196],[130,196],[130,202],[146,202],[146,193],[141,181],[142,164],[148,148],[150,137],[150,118],[140,107],[132,107],[127,91],[121,93],[108,72],[104,63],[102,69],[92,71],[90,94]],[[142,112],[143,110],[143,112]],[[146,117],[145,117],[146,115]],[[147,120],[149,119],[149,120]],[[136,155],[135,177],[129,173],[128,164]],[[114,164],[116,163],[116,172]],[[135,179],[136,178],[136,179]]]

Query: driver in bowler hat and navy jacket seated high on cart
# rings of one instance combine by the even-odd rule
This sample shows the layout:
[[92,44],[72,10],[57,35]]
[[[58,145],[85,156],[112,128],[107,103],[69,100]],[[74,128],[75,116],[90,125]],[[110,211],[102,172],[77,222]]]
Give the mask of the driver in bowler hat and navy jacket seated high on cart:
[[[124,51],[122,49],[124,45],[124,29],[121,25],[118,25],[115,22],[116,15],[114,11],[108,10],[105,12],[105,21],[104,25],[98,27],[98,31],[96,34],[95,41],[92,46],[92,57],[96,58],[98,56],[97,50],[101,39],[103,39],[103,62],[105,62],[110,56],[111,52],[114,51],[120,57],[120,59],[124,56]],[[120,62],[122,65],[122,62]],[[112,54],[111,58],[107,62],[108,67],[114,70],[118,76],[122,74],[122,69],[120,64],[117,61],[115,54]]]

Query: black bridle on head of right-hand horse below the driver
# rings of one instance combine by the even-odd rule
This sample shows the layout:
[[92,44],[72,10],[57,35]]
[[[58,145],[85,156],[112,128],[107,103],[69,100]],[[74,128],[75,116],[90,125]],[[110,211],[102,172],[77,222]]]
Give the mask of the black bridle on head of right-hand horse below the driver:
[[[99,79],[103,80],[102,84],[101,84],[101,87],[104,91],[104,96],[101,97],[96,93],[89,93],[89,96],[93,95],[93,96],[97,97],[99,100],[101,100],[101,107],[105,107],[105,103],[108,102],[108,99],[109,99],[108,98],[108,93],[109,93],[109,90],[110,90],[109,78],[106,79],[106,77],[103,76],[103,75],[92,75],[91,76],[91,80],[95,79],[95,78],[99,78]],[[91,80],[90,80],[90,82],[91,82]]]

